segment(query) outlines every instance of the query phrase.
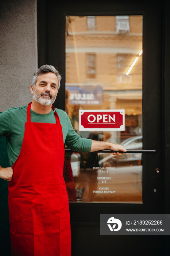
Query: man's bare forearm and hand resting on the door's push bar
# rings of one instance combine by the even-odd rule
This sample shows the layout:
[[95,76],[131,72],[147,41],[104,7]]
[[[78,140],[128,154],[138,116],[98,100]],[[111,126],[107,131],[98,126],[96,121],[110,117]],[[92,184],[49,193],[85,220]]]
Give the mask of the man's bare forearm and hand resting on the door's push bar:
[[125,155],[125,152],[127,151],[123,146],[119,144],[113,144],[111,142],[104,142],[104,141],[97,141],[97,140],[92,140],[92,147],[91,151],[98,151],[98,150],[104,150],[104,149],[109,149],[113,151],[123,151],[124,153],[112,153],[113,155]]

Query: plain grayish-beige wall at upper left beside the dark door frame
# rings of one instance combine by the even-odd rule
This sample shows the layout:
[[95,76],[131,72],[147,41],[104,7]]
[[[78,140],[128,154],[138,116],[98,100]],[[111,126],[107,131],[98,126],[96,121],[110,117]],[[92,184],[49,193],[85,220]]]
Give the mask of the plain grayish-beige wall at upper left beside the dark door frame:
[[0,112],[29,103],[37,69],[36,0],[0,3]]

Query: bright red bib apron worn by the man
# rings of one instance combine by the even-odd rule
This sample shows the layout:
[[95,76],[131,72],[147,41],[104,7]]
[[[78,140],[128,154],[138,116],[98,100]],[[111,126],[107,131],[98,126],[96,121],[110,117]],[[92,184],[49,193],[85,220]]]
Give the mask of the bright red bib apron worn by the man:
[[31,103],[22,148],[8,185],[11,255],[70,256],[62,127],[56,112],[56,124],[32,123],[30,108]]

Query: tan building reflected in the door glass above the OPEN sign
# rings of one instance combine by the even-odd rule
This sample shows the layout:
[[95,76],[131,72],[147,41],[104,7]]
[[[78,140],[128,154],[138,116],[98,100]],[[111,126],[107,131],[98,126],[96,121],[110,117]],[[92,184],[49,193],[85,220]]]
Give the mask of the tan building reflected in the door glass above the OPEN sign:
[[[125,109],[126,128],[117,143],[141,135],[142,55],[138,54],[142,49],[142,16],[68,16],[66,30],[66,86],[70,92],[77,87],[75,105]],[[93,86],[102,88],[102,101],[87,100]],[[87,95],[82,95],[81,87],[88,88]],[[70,112],[72,108],[73,101]]]

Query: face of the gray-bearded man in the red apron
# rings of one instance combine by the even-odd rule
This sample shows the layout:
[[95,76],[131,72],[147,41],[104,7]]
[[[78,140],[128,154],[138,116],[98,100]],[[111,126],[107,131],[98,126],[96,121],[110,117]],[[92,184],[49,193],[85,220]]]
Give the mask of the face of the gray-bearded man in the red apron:
[[58,79],[52,73],[39,75],[35,84],[35,88],[31,84],[31,93],[33,99],[41,105],[51,105],[55,101],[58,93]]

